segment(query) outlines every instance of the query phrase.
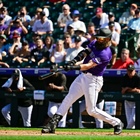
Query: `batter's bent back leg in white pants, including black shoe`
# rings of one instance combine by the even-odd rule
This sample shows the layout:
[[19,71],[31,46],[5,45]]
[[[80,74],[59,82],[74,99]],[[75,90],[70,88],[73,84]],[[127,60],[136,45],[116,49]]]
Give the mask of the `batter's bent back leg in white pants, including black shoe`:
[[105,111],[96,107],[98,93],[103,85],[103,78],[101,76],[93,76],[92,78],[86,76],[85,78],[85,100],[87,112],[90,116],[103,120],[114,127],[114,134],[120,134],[122,131],[122,123],[120,119],[112,117]]

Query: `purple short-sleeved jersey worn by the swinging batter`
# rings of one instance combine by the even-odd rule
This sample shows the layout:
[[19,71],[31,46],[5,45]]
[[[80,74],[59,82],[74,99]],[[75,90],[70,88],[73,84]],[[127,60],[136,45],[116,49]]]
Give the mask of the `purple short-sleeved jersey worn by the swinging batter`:
[[92,73],[96,76],[102,76],[106,69],[106,66],[112,58],[110,47],[107,47],[103,50],[97,50],[95,47],[95,42],[92,42],[92,44],[90,44],[88,47],[91,49],[91,53],[84,59],[83,63],[85,64],[88,63],[89,60],[92,60],[98,65],[90,68],[89,70],[87,70],[87,72]]

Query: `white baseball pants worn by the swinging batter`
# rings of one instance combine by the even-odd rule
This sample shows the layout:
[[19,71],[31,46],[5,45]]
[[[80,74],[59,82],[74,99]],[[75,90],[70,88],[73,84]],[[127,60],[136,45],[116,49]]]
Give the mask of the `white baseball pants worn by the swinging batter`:
[[120,119],[112,117],[96,107],[98,93],[101,90],[102,85],[102,76],[93,76],[90,73],[81,73],[71,84],[69,93],[63,100],[57,114],[64,116],[70,106],[84,95],[86,110],[90,116],[103,120],[112,126],[118,125],[120,123]]

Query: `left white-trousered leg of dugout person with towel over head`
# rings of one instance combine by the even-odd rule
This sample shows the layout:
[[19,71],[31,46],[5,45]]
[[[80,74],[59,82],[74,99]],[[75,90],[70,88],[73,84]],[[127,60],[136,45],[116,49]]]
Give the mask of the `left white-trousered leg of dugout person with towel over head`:
[[8,105],[4,106],[1,110],[1,113],[2,113],[3,117],[5,118],[5,120],[7,121],[7,123],[9,125],[11,124],[10,111],[11,111],[11,104],[8,104]]

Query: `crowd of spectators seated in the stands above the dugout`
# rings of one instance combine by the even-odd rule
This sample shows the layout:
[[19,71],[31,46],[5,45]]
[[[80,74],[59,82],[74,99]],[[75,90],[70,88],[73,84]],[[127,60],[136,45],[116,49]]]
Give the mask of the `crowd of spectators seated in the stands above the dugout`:
[[[127,11],[124,10],[124,13],[118,19],[116,18],[116,13],[111,10],[106,11],[104,5],[108,2],[107,0],[100,2],[97,0],[81,0],[77,4],[83,3],[85,6],[90,3],[90,6],[95,6],[92,8],[87,7],[88,10],[92,10],[92,16],[89,19],[85,19],[84,14],[89,14],[90,11],[87,9],[81,11],[80,6],[76,9],[72,5],[72,3],[76,2],[68,0],[50,1],[46,2],[47,6],[38,7],[32,5],[34,6],[32,15],[30,15],[31,10],[27,10],[28,7],[26,7],[25,2],[25,5],[19,6],[17,13],[11,16],[11,10],[9,11],[11,7],[8,7],[1,0],[0,66],[7,68],[45,68],[50,63],[61,65],[73,59],[80,50],[95,41],[94,35],[99,28],[104,27],[110,28],[112,31],[110,44],[112,60],[108,68],[119,68],[113,65],[116,65],[116,60],[121,57],[120,48],[127,48],[130,51],[130,57],[137,59],[135,54],[138,47],[140,47],[139,5],[130,3],[130,8]],[[109,2],[111,3],[112,1]],[[120,1],[120,3],[125,2]],[[52,5],[53,7],[51,7]],[[12,8],[14,11],[14,7]],[[57,10],[58,13],[55,15],[54,13]],[[121,42],[124,31],[133,33],[133,35],[138,33],[137,36],[134,36],[134,39],[128,42],[128,46]]]

